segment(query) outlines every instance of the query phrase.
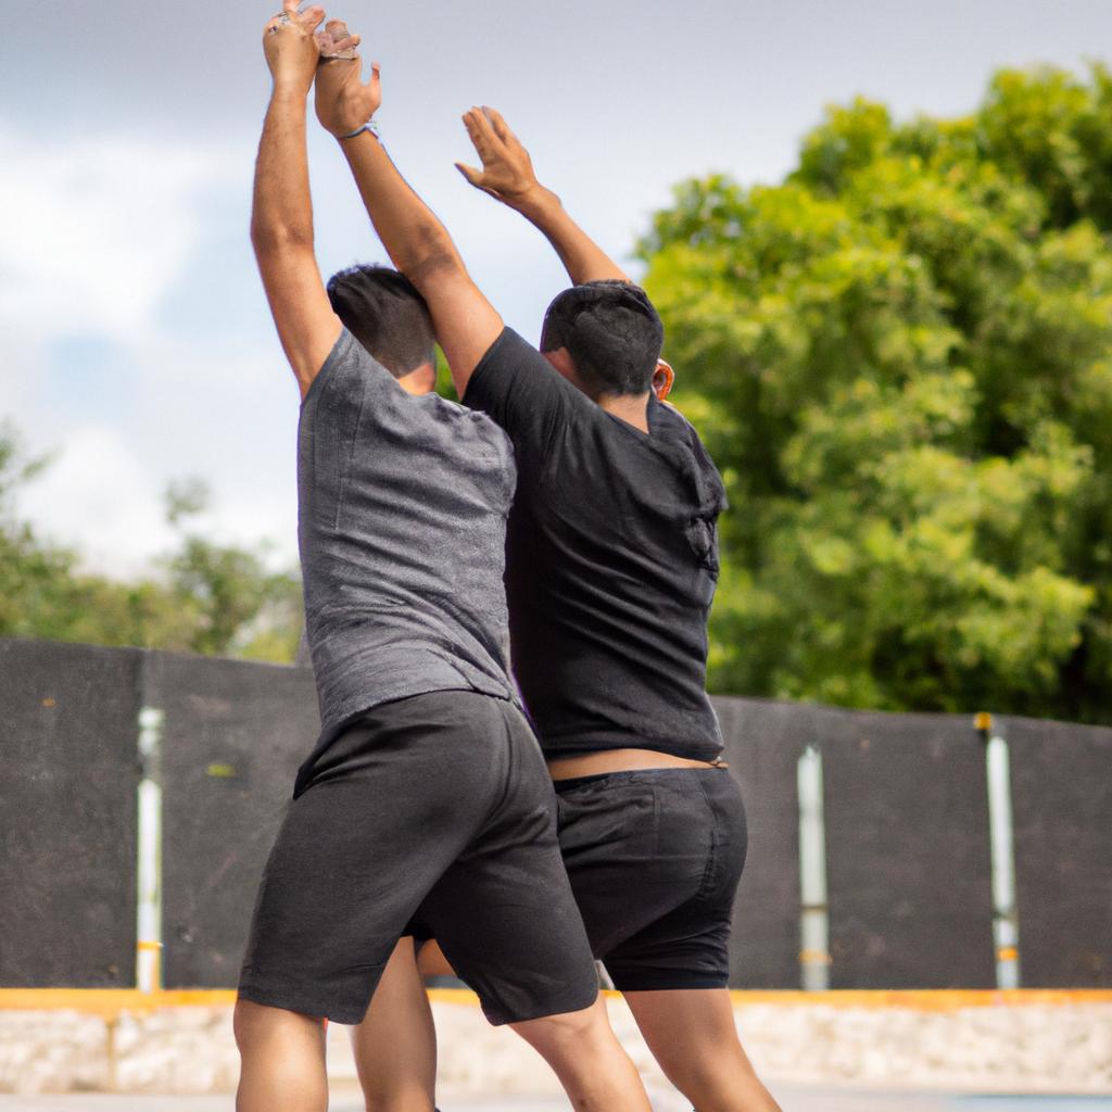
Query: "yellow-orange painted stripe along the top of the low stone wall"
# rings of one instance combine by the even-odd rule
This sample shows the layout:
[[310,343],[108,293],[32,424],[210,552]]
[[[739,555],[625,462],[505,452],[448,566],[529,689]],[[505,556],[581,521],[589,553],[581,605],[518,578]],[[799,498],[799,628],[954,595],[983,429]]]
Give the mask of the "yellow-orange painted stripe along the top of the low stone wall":
[[[430,989],[429,999],[444,1004],[475,1005],[467,989]],[[607,996],[620,993],[607,992]],[[924,1012],[954,1012],[964,1007],[1033,1006],[1068,1007],[1075,1004],[1112,1004],[1108,989],[854,989],[831,992],[794,990],[734,990],[737,1007],[775,1004],[791,1007],[902,1007]],[[236,1002],[234,989],[0,989],[0,1010],[73,1011],[101,1015],[146,1012],[158,1007],[226,1007]]]

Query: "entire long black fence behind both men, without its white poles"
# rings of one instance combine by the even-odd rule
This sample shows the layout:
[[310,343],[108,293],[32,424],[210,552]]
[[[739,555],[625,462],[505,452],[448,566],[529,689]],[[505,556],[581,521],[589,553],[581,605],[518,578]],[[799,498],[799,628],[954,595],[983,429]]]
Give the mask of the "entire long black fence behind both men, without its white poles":
[[[984,751],[964,716],[716,698],[749,856],[732,984],[800,984],[796,766],[823,755],[832,987],[994,983]],[[0,641],[0,984],[135,983],[138,715],[163,712],[163,973],[236,983],[317,733],[308,668]],[[1112,987],[1112,729],[1006,718],[1023,983]]]

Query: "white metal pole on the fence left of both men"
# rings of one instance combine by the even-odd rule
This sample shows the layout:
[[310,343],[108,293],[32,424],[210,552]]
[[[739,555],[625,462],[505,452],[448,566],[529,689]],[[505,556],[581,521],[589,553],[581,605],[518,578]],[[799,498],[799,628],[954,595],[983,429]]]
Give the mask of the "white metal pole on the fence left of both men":
[[162,723],[152,706],[139,712],[139,860],[137,870],[136,983],[162,986]]

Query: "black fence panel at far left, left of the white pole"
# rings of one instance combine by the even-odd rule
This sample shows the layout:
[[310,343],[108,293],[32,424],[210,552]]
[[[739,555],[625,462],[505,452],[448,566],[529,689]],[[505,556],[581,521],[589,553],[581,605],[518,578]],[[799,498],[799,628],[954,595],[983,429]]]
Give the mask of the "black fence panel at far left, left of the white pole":
[[0,641],[0,984],[135,983],[142,653]]

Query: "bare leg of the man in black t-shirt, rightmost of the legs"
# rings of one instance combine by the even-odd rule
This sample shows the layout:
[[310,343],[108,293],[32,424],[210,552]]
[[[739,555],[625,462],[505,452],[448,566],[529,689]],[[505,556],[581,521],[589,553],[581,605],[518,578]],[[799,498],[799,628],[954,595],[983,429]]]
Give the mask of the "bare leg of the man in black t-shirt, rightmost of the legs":
[[625,999],[653,1056],[696,1112],[781,1112],[742,1049],[725,989],[627,992]]

